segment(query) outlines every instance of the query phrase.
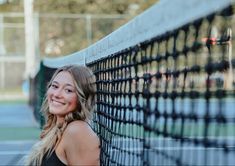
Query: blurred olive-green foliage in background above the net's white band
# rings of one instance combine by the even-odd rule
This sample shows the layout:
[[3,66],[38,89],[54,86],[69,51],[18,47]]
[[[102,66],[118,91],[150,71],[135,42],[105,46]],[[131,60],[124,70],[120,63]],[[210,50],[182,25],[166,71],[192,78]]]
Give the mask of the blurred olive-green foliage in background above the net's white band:
[[[34,12],[39,13],[39,50],[40,56],[63,56],[88,47],[115,29],[128,22],[158,0],[34,0]],[[0,12],[23,12],[24,0],[11,0],[0,5]],[[57,14],[48,17],[43,14]],[[83,14],[84,17],[61,14]],[[91,15],[89,20],[86,14]],[[112,18],[107,16],[120,16]],[[105,16],[105,17],[104,17]],[[5,17],[6,23],[23,23],[23,17]],[[14,29],[13,29],[14,30]],[[23,29],[22,29],[23,30]],[[14,41],[15,33],[4,30],[5,40]],[[20,31],[19,31],[20,32]],[[7,34],[8,33],[8,34]],[[37,33],[37,32],[36,32]],[[24,33],[21,33],[24,34]],[[19,36],[19,34],[17,34]],[[17,37],[17,36],[16,36]],[[23,36],[15,41],[21,44],[7,44],[9,51],[22,52]],[[9,46],[9,47],[8,47]]]

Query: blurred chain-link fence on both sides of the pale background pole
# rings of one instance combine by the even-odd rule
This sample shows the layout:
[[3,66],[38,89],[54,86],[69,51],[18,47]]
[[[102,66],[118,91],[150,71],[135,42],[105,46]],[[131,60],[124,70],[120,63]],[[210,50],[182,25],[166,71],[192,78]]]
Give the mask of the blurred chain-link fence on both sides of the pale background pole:
[[[127,15],[34,14],[35,54],[68,55],[108,35]],[[25,72],[23,13],[0,13],[0,89],[21,88]]]

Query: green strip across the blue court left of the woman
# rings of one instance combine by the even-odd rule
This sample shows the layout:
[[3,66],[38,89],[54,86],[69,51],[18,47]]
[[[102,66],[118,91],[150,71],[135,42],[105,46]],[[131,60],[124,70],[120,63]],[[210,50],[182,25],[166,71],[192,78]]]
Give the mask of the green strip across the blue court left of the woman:
[[37,127],[0,127],[0,141],[37,140],[40,132]]

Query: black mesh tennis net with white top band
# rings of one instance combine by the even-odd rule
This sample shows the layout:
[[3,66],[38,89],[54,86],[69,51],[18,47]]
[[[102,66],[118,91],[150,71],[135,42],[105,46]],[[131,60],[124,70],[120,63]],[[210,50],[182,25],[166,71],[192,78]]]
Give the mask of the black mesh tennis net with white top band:
[[39,74],[94,71],[102,165],[234,165],[234,21],[234,1],[160,1]]

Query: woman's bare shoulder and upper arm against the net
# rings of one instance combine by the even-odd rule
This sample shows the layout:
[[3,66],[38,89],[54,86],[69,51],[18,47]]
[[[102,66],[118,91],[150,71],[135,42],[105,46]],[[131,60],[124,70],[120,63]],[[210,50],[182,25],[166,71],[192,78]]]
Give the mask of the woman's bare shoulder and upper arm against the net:
[[86,122],[71,122],[65,129],[64,139],[68,165],[100,164],[99,138]]

